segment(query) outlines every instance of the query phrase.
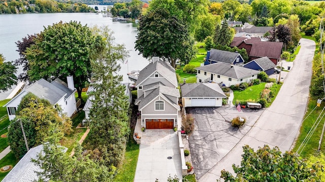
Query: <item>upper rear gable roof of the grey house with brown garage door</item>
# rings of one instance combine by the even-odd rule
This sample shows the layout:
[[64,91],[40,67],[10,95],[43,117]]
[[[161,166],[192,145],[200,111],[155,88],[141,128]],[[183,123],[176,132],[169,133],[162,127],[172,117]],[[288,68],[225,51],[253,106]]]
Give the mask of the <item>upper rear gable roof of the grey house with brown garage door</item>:
[[163,60],[159,59],[158,61],[149,63],[145,68],[140,71],[136,86],[138,86],[155,71],[158,71],[159,73],[163,74],[163,76],[169,79],[173,84],[178,84],[175,69],[169,63],[166,63]]

